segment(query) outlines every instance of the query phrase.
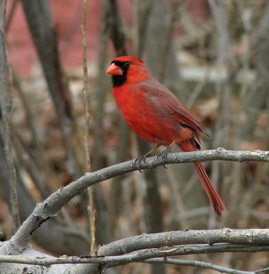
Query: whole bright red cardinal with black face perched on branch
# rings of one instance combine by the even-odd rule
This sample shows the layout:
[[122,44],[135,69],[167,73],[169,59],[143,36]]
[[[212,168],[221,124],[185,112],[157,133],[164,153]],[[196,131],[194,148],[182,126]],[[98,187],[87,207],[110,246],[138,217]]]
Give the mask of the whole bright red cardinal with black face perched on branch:
[[[194,116],[165,86],[160,84],[134,56],[115,58],[108,67],[112,75],[113,95],[121,114],[143,140],[155,147],[138,158],[145,160],[154,149],[167,147],[165,156],[176,144],[182,151],[200,150],[203,129]],[[215,213],[220,216],[224,203],[213,188],[209,176],[200,162],[193,162],[202,186],[207,192]]]

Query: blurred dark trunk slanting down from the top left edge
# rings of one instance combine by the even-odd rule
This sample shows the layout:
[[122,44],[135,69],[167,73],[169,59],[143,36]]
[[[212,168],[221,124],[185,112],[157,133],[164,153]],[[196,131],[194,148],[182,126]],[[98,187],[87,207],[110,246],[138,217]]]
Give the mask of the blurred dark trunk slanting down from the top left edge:
[[78,178],[81,171],[73,147],[75,122],[67,79],[62,73],[60,64],[57,33],[49,11],[49,4],[45,0],[23,0],[22,4],[51,99],[58,114],[67,150],[67,169],[73,178]]

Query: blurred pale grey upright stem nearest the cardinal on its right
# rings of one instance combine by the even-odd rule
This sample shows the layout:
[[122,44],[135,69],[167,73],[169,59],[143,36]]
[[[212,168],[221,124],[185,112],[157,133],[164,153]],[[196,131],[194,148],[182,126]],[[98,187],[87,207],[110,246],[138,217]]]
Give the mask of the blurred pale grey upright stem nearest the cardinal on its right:
[[[233,64],[233,55],[231,51],[231,39],[228,27],[228,18],[226,16],[226,2],[220,0],[208,0],[211,8],[215,26],[217,29],[217,66],[218,72],[224,69],[227,73],[226,81],[222,81],[218,77],[216,82],[217,101],[218,107],[218,119],[215,121],[213,132],[213,147],[218,146],[220,143],[231,145],[231,79]],[[220,184],[220,163],[213,162],[212,164],[212,181],[215,184],[215,188],[218,190]],[[224,168],[225,171],[225,168]],[[216,225],[215,214],[209,216],[209,228]]]

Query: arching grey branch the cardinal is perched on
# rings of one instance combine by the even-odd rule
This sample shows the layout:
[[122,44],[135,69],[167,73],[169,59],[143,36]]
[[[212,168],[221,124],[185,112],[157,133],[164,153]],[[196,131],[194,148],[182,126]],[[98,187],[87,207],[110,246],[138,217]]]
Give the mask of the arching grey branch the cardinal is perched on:
[[[169,153],[167,155],[167,164],[207,161],[207,160],[226,160],[226,161],[260,161],[269,162],[269,151],[231,151],[223,148],[194,151],[186,153]],[[141,163],[141,169],[152,169],[163,164],[162,159],[156,156],[148,158],[145,163]],[[43,203],[38,204],[34,212],[21,225],[19,230],[12,237],[13,245],[21,247],[27,246],[30,236],[42,223],[51,216],[55,216],[62,206],[65,206],[73,197],[80,194],[88,186],[97,184],[106,179],[110,179],[117,175],[123,175],[131,171],[137,171],[137,165],[133,160],[122,162],[113,166],[108,166],[93,173],[86,173],[75,182],[60,188],[52,193]]]

